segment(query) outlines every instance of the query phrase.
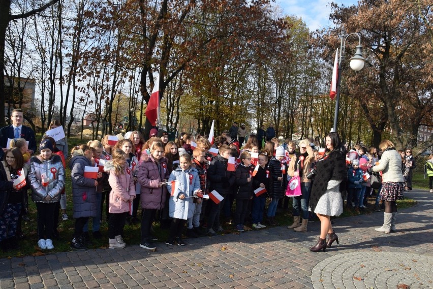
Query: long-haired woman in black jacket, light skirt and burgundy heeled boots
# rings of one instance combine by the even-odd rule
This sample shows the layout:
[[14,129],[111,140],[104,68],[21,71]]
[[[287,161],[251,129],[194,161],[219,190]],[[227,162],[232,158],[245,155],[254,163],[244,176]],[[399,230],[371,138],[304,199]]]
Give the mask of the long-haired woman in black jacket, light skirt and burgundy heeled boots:
[[[326,152],[317,162],[317,173],[310,195],[310,210],[320,219],[321,229],[317,244],[310,248],[318,252],[330,247],[338,237],[332,230],[330,216],[343,213],[343,198],[341,191],[346,187],[346,149],[341,144],[337,133],[326,136]],[[326,235],[328,242],[326,243]]]

